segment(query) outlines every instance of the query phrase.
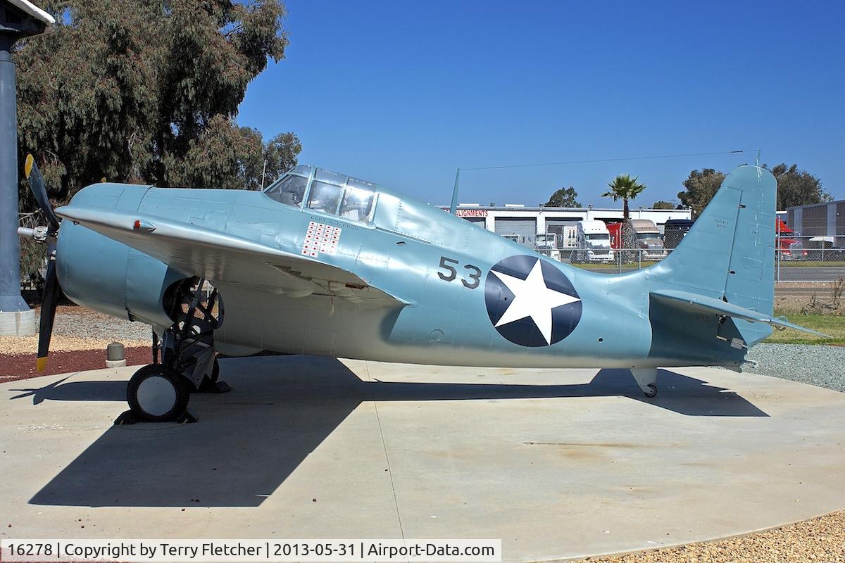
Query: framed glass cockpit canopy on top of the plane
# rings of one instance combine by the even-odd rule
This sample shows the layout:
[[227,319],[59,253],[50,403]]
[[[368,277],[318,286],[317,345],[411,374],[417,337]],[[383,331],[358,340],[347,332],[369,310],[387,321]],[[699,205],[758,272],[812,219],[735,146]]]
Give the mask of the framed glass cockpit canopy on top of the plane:
[[339,215],[354,221],[372,222],[375,184],[308,165],[298,165],[264,190],[286,205]]

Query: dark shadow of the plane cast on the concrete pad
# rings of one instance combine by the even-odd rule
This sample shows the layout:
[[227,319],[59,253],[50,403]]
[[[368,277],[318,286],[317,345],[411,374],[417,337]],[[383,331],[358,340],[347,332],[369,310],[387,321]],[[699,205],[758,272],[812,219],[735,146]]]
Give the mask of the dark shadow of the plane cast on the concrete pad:
[[[628,371],[589,383],[511,385],[363,382],[340,361],[307,356],[221,362],[233,392],[194,395],[199,424],[112,426],[31,499],[58,506],[259,506],[363,401],[624,396],[690,416],[767,416],[734,392],[661,371],[642,396]],[[16,389],[33,403],[125,401],[126,382]]]

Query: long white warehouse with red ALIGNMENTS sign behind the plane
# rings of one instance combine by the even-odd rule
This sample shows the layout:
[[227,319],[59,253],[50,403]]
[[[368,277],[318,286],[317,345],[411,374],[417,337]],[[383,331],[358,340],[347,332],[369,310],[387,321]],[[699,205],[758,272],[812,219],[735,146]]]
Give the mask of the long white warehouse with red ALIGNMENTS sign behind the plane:
[[[439,206],[449,211],[449,206]],[[563,240],[564,227],[581,220],[598,219],[605,223],[622,220],[622,208],[551,208],[526,207],[506,203],[504,207],[480,203],[461,203],[457,215],[492,230],[499,235],[518,235],[526,246],[534,246],[537,233],[554,233]],[[669,219],[691,219],[690,209],[630,209],[631,219],[651,219],[660,232]]]

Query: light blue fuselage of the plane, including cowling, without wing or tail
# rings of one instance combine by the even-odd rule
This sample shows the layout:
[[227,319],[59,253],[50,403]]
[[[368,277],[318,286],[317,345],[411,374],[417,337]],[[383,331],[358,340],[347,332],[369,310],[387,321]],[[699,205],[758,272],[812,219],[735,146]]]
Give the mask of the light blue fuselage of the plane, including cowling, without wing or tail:
[[[322,225],[338,238],[332,252],[319,253],[319,260],[357,273],[408,303],[375,306],[211,280],[225,306],[224,321],[215,333],[221,349],[512,367],[630,368],[738,361],[707,347],[682,345],[674,355],[666,346],[655,346],[648,290],[660,286],[657,277],[592,273],[553,262],[438,208],[379,190],[367,222],[281,203],[264,192],[237,190],[96,184],[80,191],[70,205],[95,204],[177,219],[294,254],[306,252],[314,225]],[[155,280],[177,279],[178,273],[165,264],[80,225],[63,225],[57,257],[59,278],[71,299],[154,327],[166,323],[155,311],[165,282]],[[550,276],[557,276],[570,284],[570,295],[565,305],[553,310],[557,312],[549,311],[557,315],[550,328],[535,322],[534,333],[514,336],[518,323],[511,333],[496,326],[509,300],[515,299],[503,280],[525,275],[537,261],[542,262],[546,285],[552,284]],[[502,266],[515,263],[526,264],[526,270],[520,274]],[[505,277],[508,272],[510,278]],[[133,276],[138,279],[130,279]],[[121,278],[125,283],[117,283]],[[139,298],[144,290],[152,293]],[[528,297],[523,295],[523,301]],[[143,305],[134,310],[134,302]],[[561,317],[560,311],[570,312]]]

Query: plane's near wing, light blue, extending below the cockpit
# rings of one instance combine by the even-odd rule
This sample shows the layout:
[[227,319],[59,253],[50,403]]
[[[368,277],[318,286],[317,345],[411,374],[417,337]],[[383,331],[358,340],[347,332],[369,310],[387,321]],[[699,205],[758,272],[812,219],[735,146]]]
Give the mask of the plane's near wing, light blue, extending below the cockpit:
[[344,268],[219,230],[95,206],[66,206],[56,213],[215,285],[238,284],[292,297],[330,295],[381,306],[411,304]]

